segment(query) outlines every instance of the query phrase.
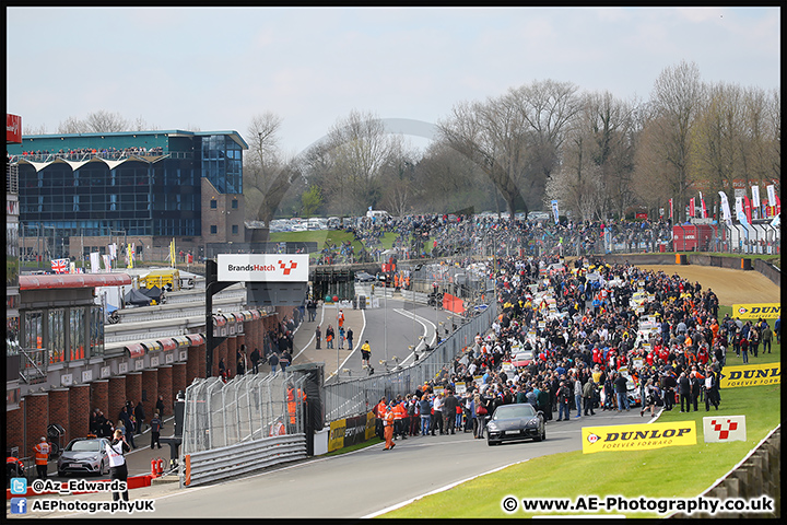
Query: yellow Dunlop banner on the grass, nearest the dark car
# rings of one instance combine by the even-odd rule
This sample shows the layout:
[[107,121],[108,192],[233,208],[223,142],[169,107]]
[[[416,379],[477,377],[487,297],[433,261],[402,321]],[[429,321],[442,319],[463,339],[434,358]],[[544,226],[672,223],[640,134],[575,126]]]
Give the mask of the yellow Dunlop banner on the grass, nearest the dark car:
[[643,451],[696,443],[694,421],[583,428],[583,454]]

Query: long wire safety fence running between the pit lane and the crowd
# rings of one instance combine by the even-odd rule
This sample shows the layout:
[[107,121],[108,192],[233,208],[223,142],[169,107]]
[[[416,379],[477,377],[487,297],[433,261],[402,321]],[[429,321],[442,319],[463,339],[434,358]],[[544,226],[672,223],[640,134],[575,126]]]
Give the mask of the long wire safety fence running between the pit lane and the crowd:
[[495,308],[489,307],[469,318],[450,337],[406,369],[325,385],[326,421],[366,413],[383,396],[388,399],[399,394],[404,396],[415,392],[415,387],[426,381],[449,374],[454,361],[466,347],[474,342],[477,334],[483,335],[489,330],[494,316]]

